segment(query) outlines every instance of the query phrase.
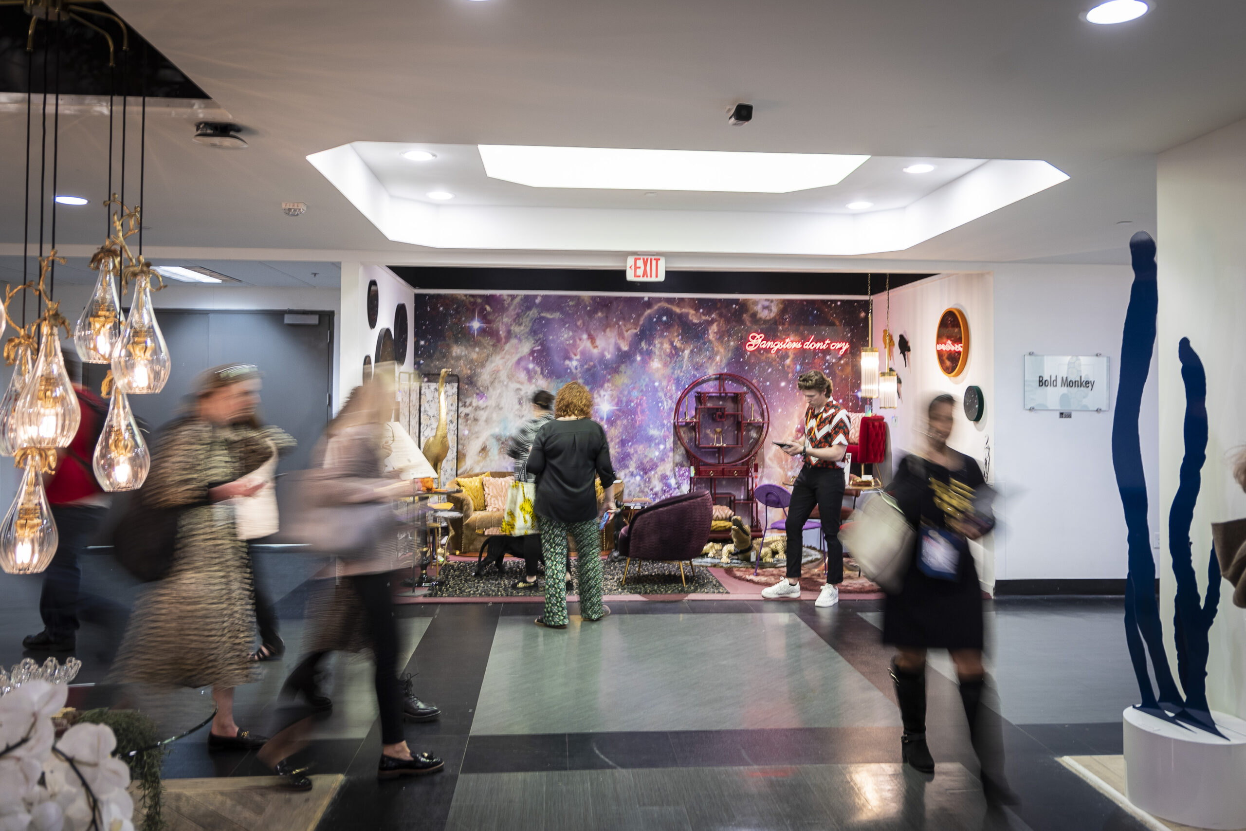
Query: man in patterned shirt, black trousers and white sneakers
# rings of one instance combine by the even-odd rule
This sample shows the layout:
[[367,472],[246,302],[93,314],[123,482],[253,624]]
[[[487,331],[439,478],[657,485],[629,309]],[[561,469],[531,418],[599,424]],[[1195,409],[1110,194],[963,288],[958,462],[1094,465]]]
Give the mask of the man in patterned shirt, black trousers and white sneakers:
[[809,406],[796,425],[796,440],[778,442],[789,456],[802,456],[805,466],[791,488],[787,507],[787,577],[761,592],[761,597],[800,599],[800,559],[805,522],[817,506],[826,536],[829,568],[815,605],[840,602],[836,588],[844,582],[844,546],[840,544],[840,508],[844,505],[844,453],[849,447],[849,414],[831,400],[831,381],[814,370],[802,373],[796,386]]

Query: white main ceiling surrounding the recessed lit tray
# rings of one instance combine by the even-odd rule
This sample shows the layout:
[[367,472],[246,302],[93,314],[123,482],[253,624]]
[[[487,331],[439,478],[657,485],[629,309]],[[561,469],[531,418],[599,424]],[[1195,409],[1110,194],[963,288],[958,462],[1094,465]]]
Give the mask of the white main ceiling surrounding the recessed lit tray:
[[[1129,235],[1154,230],[1154,154],[1246,115],[1246,5],[1159,2],[1106,27],[1078,19],[1088,5],[112,2],[248,128],[249,150],[213,151],[186,120],[150,121],[162,250],[410,252],[305,161],[409,142],[1044,159],[1070,181],[887,257],[1125,262]],[[736,101],[753,123],[728,126]],[[20,193],[25,118],[0,125],[0,192]],[[62,192],[102,196],[105,125],[62,118]],[[20,240],[16,208],[0,204],[0,240]],[[101,212],[61,208],[59,239],[96,242]]]

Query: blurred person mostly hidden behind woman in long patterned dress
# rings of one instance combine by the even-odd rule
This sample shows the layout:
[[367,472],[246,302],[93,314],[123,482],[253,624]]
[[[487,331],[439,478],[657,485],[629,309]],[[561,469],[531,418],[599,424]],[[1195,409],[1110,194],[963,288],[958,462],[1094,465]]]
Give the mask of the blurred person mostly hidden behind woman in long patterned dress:
[[253,496],[237,496],[232,502],[238,538],[247,543],[255,597],[259,648],[252,653],[254,660],[280,660],[285,654],[285,642],[277,632],[273,602],[255,569],[255,541],[277,533],[280,527],[277,513],[277,462],[297,445],[294,437],[280,427],[263,424],[255,410],[229,425],[231,449],[238,453],[243,467],[254,470],[252,476],[263,482]]

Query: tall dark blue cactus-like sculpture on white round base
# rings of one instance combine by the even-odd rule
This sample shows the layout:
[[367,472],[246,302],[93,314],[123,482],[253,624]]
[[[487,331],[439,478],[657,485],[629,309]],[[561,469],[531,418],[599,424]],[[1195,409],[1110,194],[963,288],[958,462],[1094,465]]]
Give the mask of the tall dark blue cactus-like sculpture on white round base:
[[[1143,471],[1141,442],[1138,420],[1143,390],[1155,349],[1155,321],[1159,311],[1159,290],[1155,267],[1155,240],[1139,232],[1129,240],[1134,267],[1134,285],[1129,293],[1125,330],[1120,345],[1120,385],[1116,411],[1111,424],[1111,461],[1116,472],[1116,488],[1125,511],[1129,542],[1129,576],[1125,581],[1125,642],[1141,694],[1139,710],[1164,719],[1219,731],[1211,720],[1206,700],[1207,629],[1220,601],[1220,567],[1215,556],[1209,567],[1206,604],[1199,605],[1199,587],[1190,554],[1190,525],[1199,497],[1200,475],[1206,458],[1207,411],[1206,374],[1202,361],[1181,340],[1181,378],[1186,387],[1185,458],[1176,497],[1169,512],[1169,544],[1172,572],[1176,577],[1176,644],[1177,670],[1186,696],[1181,695],[1168,654],[1164,652],[1164,627],[1160,623],[1159,601],[1155,597],[1155,561],[1151,557],[1150,528],[1146,522],[1146,475]],[[1150,655],[1158,694],[1151,686],[1146,658]]]

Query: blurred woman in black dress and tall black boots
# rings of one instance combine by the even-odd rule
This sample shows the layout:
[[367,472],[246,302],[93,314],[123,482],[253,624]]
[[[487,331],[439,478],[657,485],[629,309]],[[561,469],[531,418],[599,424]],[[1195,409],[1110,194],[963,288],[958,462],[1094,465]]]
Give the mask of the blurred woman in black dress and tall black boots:
[[891,493],[917,534],[903,587],[886,599],[882,642],[896,647],[891,677],[905,729],[905,762],[934,772],[926,744],[926,650],[947,649],[983,790],[989,801],[1011,804],[1015,796],[1004,777],[1001,716],[986,701],[982,591],[967,542],[989,532],[994,518],[983,501],[989,488],[978,462],[947,445],[954,411],[951,395],[931,400],[926,447],[900,462],[892,482]]

